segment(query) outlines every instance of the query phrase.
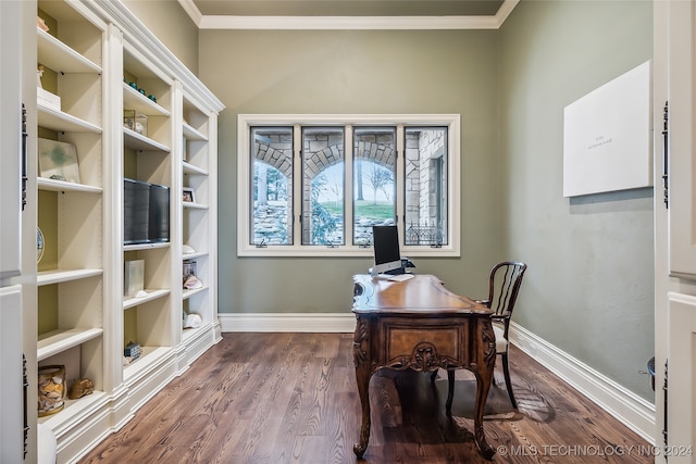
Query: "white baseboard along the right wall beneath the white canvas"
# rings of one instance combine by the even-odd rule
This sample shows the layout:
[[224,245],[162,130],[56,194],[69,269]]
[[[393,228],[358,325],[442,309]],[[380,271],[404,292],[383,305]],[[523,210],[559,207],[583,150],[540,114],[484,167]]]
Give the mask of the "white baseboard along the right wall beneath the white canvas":
[[510,324],[510,342],[638,434],[648,443],[655,444],[655,404],[515,323]]

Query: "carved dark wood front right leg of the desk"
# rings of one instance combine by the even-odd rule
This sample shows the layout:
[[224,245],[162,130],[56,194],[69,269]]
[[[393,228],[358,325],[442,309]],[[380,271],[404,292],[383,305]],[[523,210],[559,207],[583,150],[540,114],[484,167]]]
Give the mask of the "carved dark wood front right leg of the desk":
[[[490,384],[493,383],[493,371],[496,363],[496,336],[490,325],[490,319],[480,318],[481,339],[483,342],[483,356],[480,355],[476,366],[472,368],[476,377],[476,402],[474,405],[474,438],[481,454],[487,459],[493,459],[496,453],[494,448],[486,441],[483,430],[483,411],[486,405],[486,398]],[[481,351],[480,351],[481,353]]]

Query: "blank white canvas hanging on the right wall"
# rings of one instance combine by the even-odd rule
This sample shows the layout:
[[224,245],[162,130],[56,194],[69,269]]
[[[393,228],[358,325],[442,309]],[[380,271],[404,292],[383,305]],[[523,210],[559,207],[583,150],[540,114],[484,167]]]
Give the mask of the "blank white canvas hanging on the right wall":
[[563,197],[652,185],[647,61],[566,106]]

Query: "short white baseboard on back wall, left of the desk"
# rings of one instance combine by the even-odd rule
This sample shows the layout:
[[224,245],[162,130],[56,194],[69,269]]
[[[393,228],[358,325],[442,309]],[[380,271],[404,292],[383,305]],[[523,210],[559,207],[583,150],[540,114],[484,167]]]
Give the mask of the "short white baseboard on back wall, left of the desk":
[[334,313],[217,313],[222,331],[353,333],[356,315]]

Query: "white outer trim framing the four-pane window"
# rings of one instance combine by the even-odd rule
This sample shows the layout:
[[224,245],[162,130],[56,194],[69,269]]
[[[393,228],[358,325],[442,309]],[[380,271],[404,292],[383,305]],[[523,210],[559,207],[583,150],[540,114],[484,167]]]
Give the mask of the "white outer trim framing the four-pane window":
[[[423,126],[447,126],[448,135],[448,156],[447,156],[447,214],[449,223],[449,242],[442,248],[428,246],[415,247],[403,246],[403,211],[400,202],[397,202],[397,214],[399,217],[399,241],[401,253],[409,258],[418,256],[459,256],[460,255],[460,183],[461,183],[461,116],[459,114],[239,114],[237,115],[237,255],[238,256],[372,256],[372,247],[360,248],[353,244],[339,246],[337,248],[321,246],[302,246],[300,243],[288,246],[257,247],[250,244],[251,225],[250,192],[251,176],[249,156],[249,133],[252,126],[291,126],[291,125],[338,125],[338,126],[362,126],[362,125],[398,125],[407,124]],[[347,133],[348,137],[349,134]],[[349,140],[346,138],[346,140]],[[401,137],[397,137],[397,143],[402,143]],[[346,143],[347,146],[349,143]],[[349,147],[346,147],[348,151]],[[295,156],[301,149],[295,146]],[[352,151],[352,147],[350,147]],[[399,158],[403,155],[402,147],[398,148]],[[346,178],[350,179],[352,166],[346,163]],[[402,162],[397,163],[397,189],[402,189],[403,167]],[[352,181],[346,181],[346,198],[352,198]],[[296,199],[297,201],[297,199]],[[346,224],[352,224],[351,214],[346,215]],[[300,227],[299,215],[294,214],[293,228]],[[350,220],[350,222],[348,222]]]

